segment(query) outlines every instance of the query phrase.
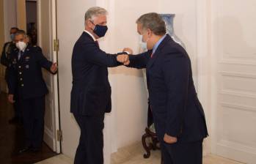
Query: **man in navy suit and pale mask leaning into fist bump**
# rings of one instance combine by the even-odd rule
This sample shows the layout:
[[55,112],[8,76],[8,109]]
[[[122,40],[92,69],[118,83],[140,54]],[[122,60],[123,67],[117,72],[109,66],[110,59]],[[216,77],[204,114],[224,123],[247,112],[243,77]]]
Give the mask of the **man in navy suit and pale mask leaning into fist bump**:
[[166,34],[164,20],[157,13],[142,15],[136,23],[149,51],[120,62],[147,70],[150,106],[164,164],[200,164],[202,141],[208,131],[189,56]]

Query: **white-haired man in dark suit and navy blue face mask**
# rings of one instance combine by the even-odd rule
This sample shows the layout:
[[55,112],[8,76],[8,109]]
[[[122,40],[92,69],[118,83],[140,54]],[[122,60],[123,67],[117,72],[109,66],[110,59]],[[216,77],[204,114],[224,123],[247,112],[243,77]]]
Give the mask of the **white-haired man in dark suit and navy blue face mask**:
[[111,111],[107,67],[120,65],[117,54],[105,53],[98,45],[107,31],[106,14],[101,7],[87,10],[85,30],[73,48],[70,111],[81,130],[75,164],[103,164],[104,114]]

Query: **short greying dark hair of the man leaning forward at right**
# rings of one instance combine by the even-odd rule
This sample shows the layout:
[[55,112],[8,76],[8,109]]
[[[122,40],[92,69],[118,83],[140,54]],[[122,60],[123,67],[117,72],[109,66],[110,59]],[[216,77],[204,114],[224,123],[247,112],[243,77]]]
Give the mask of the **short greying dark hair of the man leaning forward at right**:
[[156,35],[164,35],[167,33],[164,20],[156,12],[150,12],[139,17],[136,23],[142,24],[142,29],[150,29]]

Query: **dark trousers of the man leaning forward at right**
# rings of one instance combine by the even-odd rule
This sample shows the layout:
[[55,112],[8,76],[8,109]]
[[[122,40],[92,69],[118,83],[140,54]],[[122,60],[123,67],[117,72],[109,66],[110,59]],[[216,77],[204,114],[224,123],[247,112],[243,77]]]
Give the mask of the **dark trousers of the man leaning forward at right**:
[[164,164],[202,164],[202,141],[169,144],[161,141]]

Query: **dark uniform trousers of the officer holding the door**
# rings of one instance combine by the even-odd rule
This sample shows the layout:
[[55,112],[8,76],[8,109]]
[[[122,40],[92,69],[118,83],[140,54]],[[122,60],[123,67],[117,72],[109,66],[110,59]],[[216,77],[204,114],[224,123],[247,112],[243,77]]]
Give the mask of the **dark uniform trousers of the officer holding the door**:
[[40,149],[43,143],[45,96],[20,99],[26,146]]

